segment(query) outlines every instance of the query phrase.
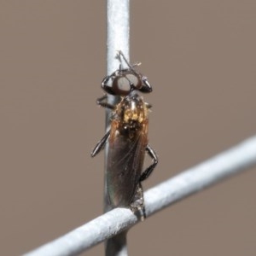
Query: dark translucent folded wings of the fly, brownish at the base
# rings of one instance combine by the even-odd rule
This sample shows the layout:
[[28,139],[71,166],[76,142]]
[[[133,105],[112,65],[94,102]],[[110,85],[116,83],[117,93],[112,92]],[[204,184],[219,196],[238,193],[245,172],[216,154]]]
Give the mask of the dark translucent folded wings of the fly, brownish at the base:
[[130,207],[142,173],[147,143],[146,127],[133,137],[120,135],[118,131],[112,133],[108,148],[107,186],[113,207]]

